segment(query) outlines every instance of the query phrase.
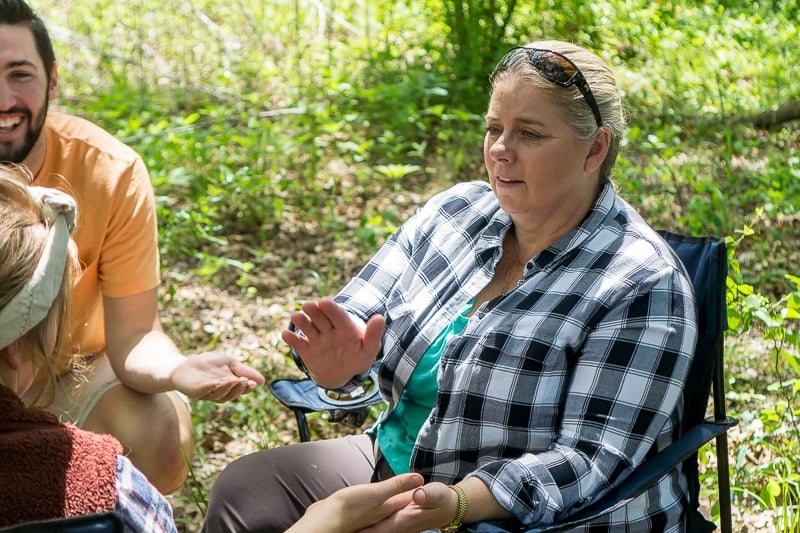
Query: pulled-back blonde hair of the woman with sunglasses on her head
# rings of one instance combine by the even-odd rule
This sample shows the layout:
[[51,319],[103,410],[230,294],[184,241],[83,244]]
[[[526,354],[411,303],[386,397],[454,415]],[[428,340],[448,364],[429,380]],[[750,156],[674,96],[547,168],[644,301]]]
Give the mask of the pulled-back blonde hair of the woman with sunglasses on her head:
[[[606,158],[600,166],[600,181],[607,182],[619,154],[620,140],[625,132],[625,113],[617,80],[608,65],[596,54],[576,44],[564,41],[536,41],[526,44],[525,48],[538,48],[550,50],[569,58],[575,63],[586,78],[586,83],[592,90],[600,116],[603,118],[603,127],[611,132],[611,144]],[[577,87],[561,87],[542,76],[528,61],[514,61],[508,68],[493,73],[492,87],[500,80],[517,76],[524,79],[532,87],[541,89],[548,98],[556,103],[564,119],[575,130],[578,137],[590,139],[597,131],[597,121],[585,102]]]

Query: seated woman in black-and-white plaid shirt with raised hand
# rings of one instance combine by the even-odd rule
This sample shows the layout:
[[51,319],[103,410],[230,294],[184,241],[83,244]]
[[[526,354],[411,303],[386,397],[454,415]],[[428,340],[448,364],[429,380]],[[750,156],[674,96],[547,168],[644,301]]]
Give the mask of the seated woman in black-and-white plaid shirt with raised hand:
[[[512,49],[491,81],[488,182],[434,196],[284,332],[326,388],[357,387],[378,361],[386,411],[364,435],[231,464],[207,531],[284,531],[341,487],[403,472],[426,484],[376,531],[546,524],[675,438],[694,296],[610,184],[624,127],[613,73],[546,41]],[[681,531],[686,483],[677,468],[586,529]]]

